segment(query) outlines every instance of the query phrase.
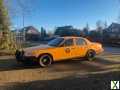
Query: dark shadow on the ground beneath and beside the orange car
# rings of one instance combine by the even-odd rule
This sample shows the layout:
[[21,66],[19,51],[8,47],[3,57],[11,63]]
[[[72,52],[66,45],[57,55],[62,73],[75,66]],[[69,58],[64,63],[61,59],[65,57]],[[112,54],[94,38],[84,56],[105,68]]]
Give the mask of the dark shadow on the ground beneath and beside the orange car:
[[[104,60],[101,58],[96,58],[95,61],[87,61],[83,58],[80,58],[80,59],[57,61],[53,63],[51,66],[46,67],[45,69],[49,69],[50,71],[59,71],[59,72],[71,71],[71,70],[78,71],[78,70],[84,70],[85,68],[88,71],[103,70],[103,67],[97,66],[97,64],[113,65],[113,64],[118,64],[118,62]],[[18,64],[15,59],[0,60],[0,71],[13,71],[13,70],[36,69],[36,68],[42,69],[37,64],[35,65]]]

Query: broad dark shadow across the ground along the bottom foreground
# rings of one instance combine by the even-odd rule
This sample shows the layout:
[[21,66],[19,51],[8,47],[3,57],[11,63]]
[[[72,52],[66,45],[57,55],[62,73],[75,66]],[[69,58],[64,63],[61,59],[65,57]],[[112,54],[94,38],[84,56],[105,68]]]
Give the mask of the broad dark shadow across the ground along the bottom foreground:
[[120,80],[120,72],[89,75],[88,77],[69,76],[55,80],[38,80],[27,83],[12,83],[1,86],[2,90],[110,90],[111,80]]

